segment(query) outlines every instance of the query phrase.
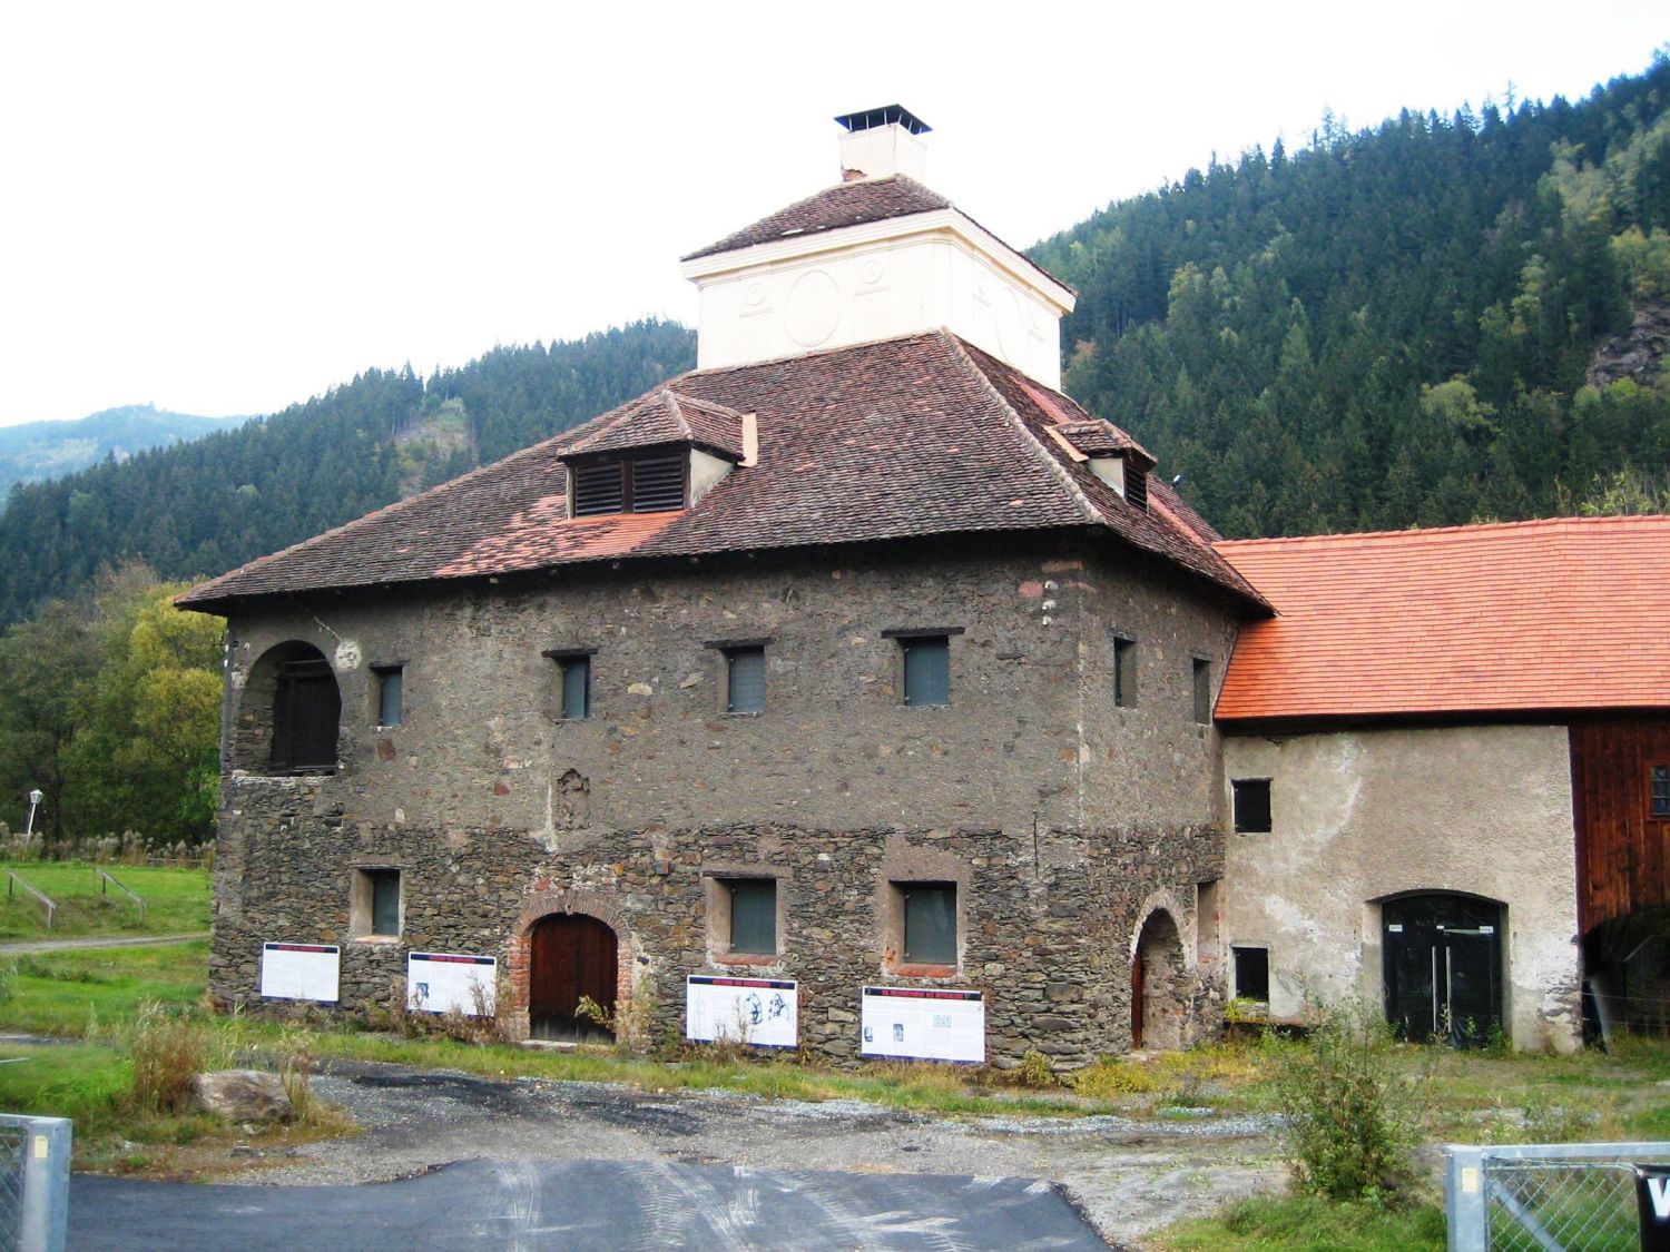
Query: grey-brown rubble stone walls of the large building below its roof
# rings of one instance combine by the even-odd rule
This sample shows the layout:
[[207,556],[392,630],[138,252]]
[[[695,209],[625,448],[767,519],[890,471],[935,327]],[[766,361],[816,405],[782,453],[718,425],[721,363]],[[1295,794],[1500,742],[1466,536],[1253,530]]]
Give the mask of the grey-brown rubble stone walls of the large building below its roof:
[[[903,983],[982,990],[999,1063],[1122,1050],[1137,926],[1159,900],[1192,938],[1196,885],[1222,873],[1219,788],[1202,776],[1216,740],[1192,723],[1187,661],[1177,691],[1161,674],[1189,649],[1219,656],[1232,616],[1171,579],[994,541],[239,616],[234,716],[259,708],[267,649],[312,643],[337,666],[342,761],[327,776],[227,771],[212,988],[252,1000],[267,940],[344,943],[347,1008],[386,1002],[409,947],[481,952],[506,963],[504,1010],[524,1025],[526,930],[571,908],[615,926],[618,995],[645,1035],[678,1033],[685,977],[726,968],[708,880],[763,868],[782,955],[748,972],[800,980],[808,1047],[855,1057],[860,987]],[[1137,709],[1104,699],[1109,603],[1152,641]],[[925,628],[960,629],[947,708],[900,703],[883,631]],[[765,713],[728,716],[706,644],[758,638]],[[543,656],[571,648],[596,649],[579,723],[556,716]],[[371,666],[392,663],[406,718],[376,728]],[[402,870],[399,942],[349,935],[354,866]],[[955,970],[897,970],[890,883],[910,880],[959,885]],[[1211,1000],[1199,975],[1191,957],[1179,995],[1196,1008]]]

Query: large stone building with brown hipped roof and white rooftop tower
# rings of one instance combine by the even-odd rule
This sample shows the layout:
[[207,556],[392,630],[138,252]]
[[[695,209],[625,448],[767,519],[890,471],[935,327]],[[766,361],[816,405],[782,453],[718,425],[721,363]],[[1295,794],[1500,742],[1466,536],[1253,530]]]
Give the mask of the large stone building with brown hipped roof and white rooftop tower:
[[1207,1028],[1268,606],[1055,391],[1072,292],[910,114],[840,120],[840,184],[686,257],[696,371],[182,598],[229,629],[215,995],[463,965],[523,1035],[1000,1065]]

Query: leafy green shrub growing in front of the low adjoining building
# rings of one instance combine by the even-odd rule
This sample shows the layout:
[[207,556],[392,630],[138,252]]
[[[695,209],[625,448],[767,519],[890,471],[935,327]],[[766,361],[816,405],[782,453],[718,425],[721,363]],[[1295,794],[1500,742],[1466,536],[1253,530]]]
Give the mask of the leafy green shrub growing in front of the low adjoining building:
[[1408,1180],[1421,1140],[1421,1092],[1396,1065],[1391,1027],[1361,1003],[1316,1013],[1309,1035],[1271,1038],[1283,1155],[1303,1192],[1373,1199]]

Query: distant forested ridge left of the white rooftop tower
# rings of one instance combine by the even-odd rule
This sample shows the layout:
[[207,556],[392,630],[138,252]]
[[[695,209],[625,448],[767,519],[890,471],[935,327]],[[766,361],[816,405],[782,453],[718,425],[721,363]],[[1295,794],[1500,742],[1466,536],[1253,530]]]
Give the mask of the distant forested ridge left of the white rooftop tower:
[[[0,619],[145,561],[219,574],[546,439],[695,364],[695,336],[640,322],[499,347],[423,381],[366,371],[326,396],[190,444],[13,489],[0,514]],[[412,437],[426,427],[449,437]]]

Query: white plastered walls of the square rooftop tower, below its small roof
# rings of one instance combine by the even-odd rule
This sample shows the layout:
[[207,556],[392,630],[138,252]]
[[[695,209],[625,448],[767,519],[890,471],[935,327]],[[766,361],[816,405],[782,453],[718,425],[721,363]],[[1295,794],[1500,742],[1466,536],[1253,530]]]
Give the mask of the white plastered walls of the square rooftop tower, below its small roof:
[[833,239],[845,234],[808,237],[798,254],[778,257],[770,255],[778,245],[762,245],[750,249],[760,255],[755,264],[693,274],[701,287],[696,366],[773,361],[945,327],[1060,387],[1064,310],[1029,280],[952,229]]

